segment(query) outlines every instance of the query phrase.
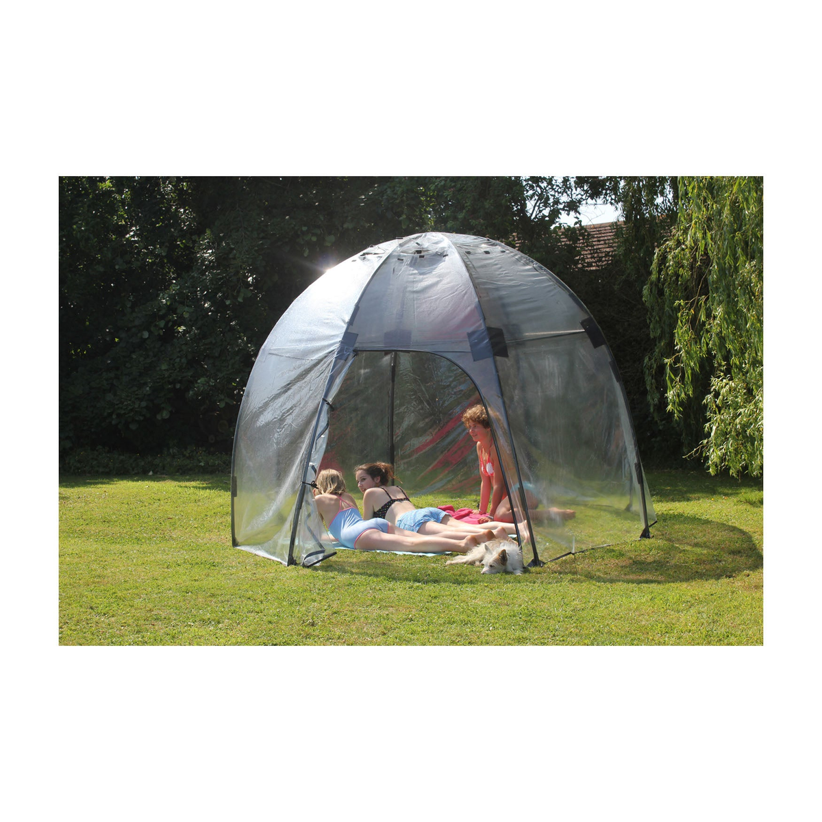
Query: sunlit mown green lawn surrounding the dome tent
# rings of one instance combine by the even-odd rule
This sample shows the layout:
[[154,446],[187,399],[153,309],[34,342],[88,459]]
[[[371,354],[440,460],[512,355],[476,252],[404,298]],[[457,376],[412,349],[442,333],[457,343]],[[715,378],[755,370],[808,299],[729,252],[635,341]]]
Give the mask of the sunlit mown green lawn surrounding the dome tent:
[[354,551],[287,568],[231,546],[226,477],[62,478],[60,644],[761,644],[762,483],[648,477],[651,539],[521,576]]

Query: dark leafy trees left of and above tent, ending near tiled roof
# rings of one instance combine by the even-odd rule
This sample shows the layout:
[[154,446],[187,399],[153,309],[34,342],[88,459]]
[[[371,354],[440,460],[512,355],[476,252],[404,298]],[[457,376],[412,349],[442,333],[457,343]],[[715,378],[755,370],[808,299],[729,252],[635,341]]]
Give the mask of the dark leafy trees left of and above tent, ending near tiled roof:
[[[570,189],[551,178],[62,178],[61,452],[227,453],[256,351],[322,271],[421,230],[536,242]],[[552,212],[537,230],[529,197],[540,190]]]

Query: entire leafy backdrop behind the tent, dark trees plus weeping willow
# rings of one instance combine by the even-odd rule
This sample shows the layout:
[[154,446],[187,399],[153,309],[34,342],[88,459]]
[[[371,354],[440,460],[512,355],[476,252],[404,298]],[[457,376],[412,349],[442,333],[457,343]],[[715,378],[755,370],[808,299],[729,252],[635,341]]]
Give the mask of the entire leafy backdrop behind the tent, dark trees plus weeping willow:
[[[687,185],[664,177],[62,178],[61,464],[97,446],[229,454],[256,352],[293,299],[372,243],[437,230],[515,245],[570,286],[614,353],[643,455],[678,457],[684,443],[713,453],[714,469],[736,469],[737,451],[723,449],[761,428],[761,381],[757,394],[735,376],[752,361],[732,329],[756,316],[761,328],[761,311],[746,314],[755,293],[728,302],[723,289],[747,293],[728,273],[733,266],[746,283],[755,275],[728,260],[741,254],[755,269],[757,258],[746,250],[753,238],[742,231],[737,239],[718,221],[736,225],[750,195],[744,181],[735,192],[711,183],[713,200]],[[687,203],[652,275],[681,186]],[[723,205],[725,196],[736,205]],[[579,219],[592,201],[624,215],[607,265],[591,265]],[[560,224],[563,215],[575,225]],[[761,228],[756,242],[761,248]],[[701,313],[683,325],[677,301],[693,298]],[[706,419],[710,449],[700,446]]]

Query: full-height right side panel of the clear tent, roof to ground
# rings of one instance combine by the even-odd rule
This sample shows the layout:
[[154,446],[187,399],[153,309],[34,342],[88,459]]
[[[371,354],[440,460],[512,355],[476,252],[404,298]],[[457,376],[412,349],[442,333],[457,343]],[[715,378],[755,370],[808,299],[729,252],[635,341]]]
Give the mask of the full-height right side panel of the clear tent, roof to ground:
[[[487,325],[501,329],[496,367],[538,543],[550,556],[637,538],[645,525],[639,455],[610,352],[589,313],[528,257],[472,238],[455,246]],[[565,520],[565,510],[574,517]]]

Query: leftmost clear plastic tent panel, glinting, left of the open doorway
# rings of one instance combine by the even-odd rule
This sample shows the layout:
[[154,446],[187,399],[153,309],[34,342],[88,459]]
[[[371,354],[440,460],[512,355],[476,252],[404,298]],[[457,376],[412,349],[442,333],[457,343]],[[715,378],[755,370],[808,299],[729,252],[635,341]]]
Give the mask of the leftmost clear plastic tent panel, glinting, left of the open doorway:
[[[396,242],[353,256],[326,272],[271,330],[249,376],[234,436],[232,532],[243,550],[289,561],[294,510],[332,367],[349,318],[375,270]],[[332,379],[333,382],[333,379]],[[320,442],[319,450],[324,447]],[[295,561],[316,550],[319,519],[302,495]],[[306,499],[307,497],[307,499]]]

